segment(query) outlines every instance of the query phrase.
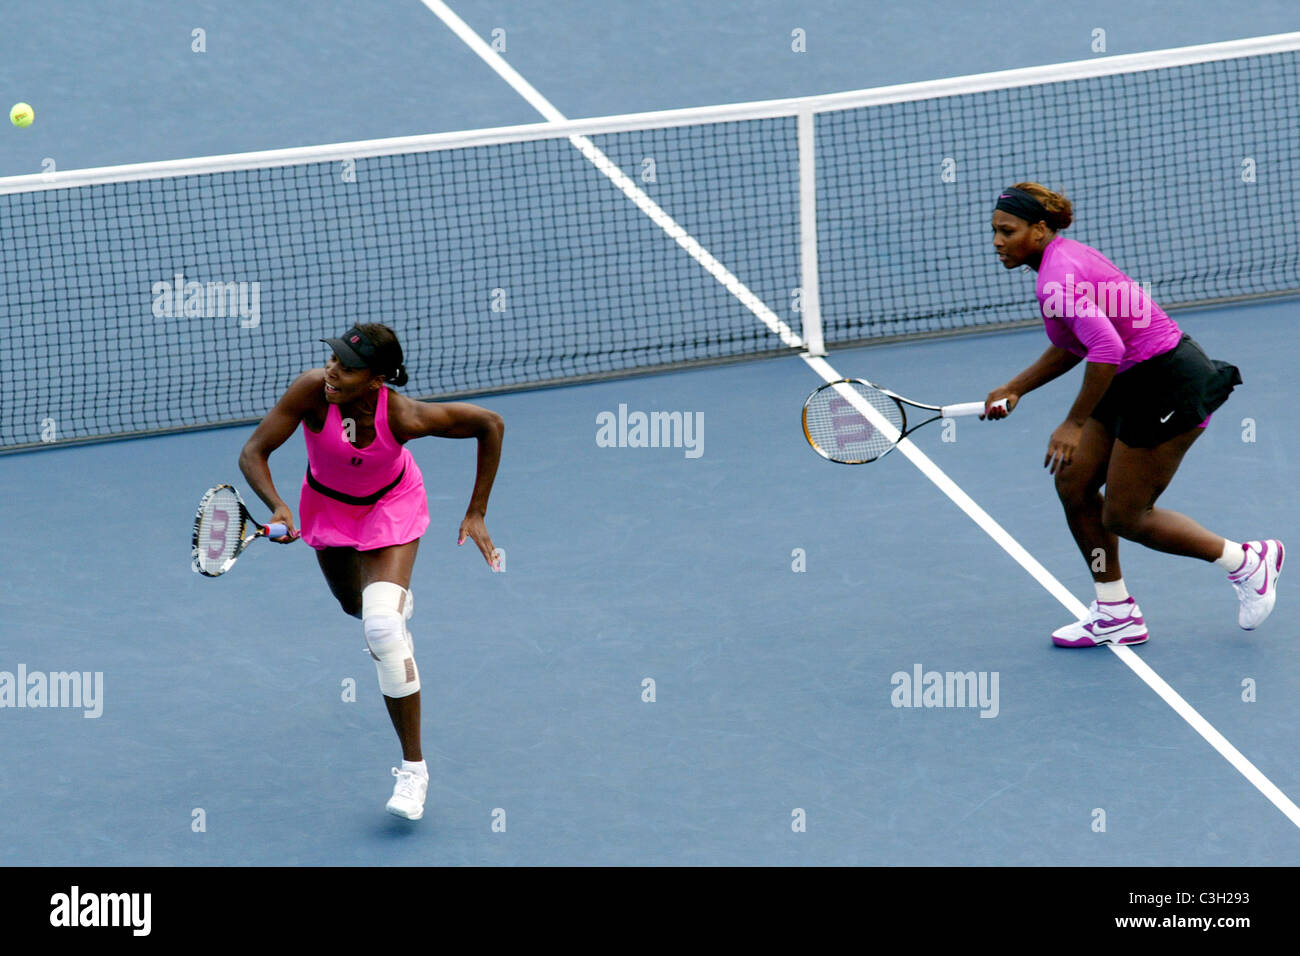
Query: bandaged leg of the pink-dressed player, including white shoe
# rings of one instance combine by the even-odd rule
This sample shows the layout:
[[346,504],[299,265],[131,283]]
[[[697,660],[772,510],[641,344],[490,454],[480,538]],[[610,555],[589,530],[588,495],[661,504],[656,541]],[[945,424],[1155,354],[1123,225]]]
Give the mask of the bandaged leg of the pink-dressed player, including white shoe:
[[387,810],[419,819],[429,786],[429,770],[420,750],[420,671],[407,622],[415,605],[410,591],[419,540],[361,551],[361,604],[365,643],[380,672],[380,691],[402,743],[402,767]]

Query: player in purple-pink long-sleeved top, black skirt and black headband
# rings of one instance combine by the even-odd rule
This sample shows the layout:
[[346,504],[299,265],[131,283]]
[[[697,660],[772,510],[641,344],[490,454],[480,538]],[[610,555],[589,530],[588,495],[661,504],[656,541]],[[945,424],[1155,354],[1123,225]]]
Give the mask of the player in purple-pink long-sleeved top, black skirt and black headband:
[[[1238,544],[1187,515],[1156,507],[1210,414],[1242,384],[1214,362],[1114,263],[1058,235],[1074,220],[1069,199],[1036,183],[1002,190],[993,212],[993,248],[1002,265],[1039,273],[1036,293],[1052,345],[985,399],[1020,397],[1087,360],[1083,385],[1048,442],[1074,540],[1092,570],[1097,600],[1088,617],[1053,632],[1066,648],[1141,644],[1147,622],[1119,570],[1119,538],[1218,564],[1236,589],[1238,623],[1253,630],[1277,600],[1282,542]],[[1105,494],[1101,488],[1105,485]]]

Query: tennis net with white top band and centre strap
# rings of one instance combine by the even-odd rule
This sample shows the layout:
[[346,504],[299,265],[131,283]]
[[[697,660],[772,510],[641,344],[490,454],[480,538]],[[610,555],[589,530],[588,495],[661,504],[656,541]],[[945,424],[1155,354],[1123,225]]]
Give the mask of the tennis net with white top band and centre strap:
[[0,451],[1032,320],[1036,179],[1166,308],[1300,289],[1300,34],[853,94],[0,179]]

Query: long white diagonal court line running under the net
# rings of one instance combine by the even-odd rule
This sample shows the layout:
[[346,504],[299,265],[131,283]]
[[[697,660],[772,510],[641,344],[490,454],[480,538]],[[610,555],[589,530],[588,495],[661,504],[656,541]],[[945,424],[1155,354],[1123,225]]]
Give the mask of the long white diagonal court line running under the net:
[[[560,113],[541,92],[538,92],[532,83],[524,79],[514,66],[506,62],[495,49],[493,49],[488,43],[480,38],[469,25],[465,23],[460,17],[451,10],[442,0],[421,0],[421,3],[428,7],[456,36],[459,36],[464,43],[474,51],[497,74],[510,83],[511,88],[515,90],[520,96],[523,96],[528,103],[540,112],[550,122],[563,122],[566,120],[564,114]],[[641,187],[638,187],[630,178],[628,178],[610,159],[601,152],[590,139],[586,137],[569,137],[569,142],[573,143],[582,155],[586,156],[592,163],[595,164],[597,169],[604,173],[610,179],[627,195],[632,202],[641,208],[647,216],[650,216],[655,224],[664,229],[664,232],[671,235],[679,246],[681,246],[696,261],[703,265],[710,274],[718,278],[728,290],[731,290],[740,300],[749,308],[758,319],[763,321],[774,333],[780,336],[781,341],[792,349],[802,347],[802,341],[794,332],[783,323],[767,306],[758,299],[745,285],[736,278],[725,267],[722,265],[716,259],[714,259],[707,250],[705,250],[693,237],[690,237],[685,229],[682,229],[667,212],[664,212],[650,196],[647,196]],[[809,354],[802,354],[801,356],[809,367],[816,372],[823,380],[831,382],[842,378],[844,376],[836,372],[831,364],[822,358],[816,358]],[[853,403],[858,411],[867,416],[867,419],[881,432],[890,437],[897,437],[897,429],[890,425],[884,416],[880,415],[875,408],[871,407],[868,402],[862,399],[855,392],[845,390],[845,397]],[[1039,561],[1030,554],[1024,548],[1013,538],[1002,525],[994,522],[984,509],[975,503],[975,501],[966,494],[961,488],[957,486],[948,475],[940,470],[920,449],[918,449],[910,438],[904,438],[898,444],[898,450],[907,457],[907,459],[916,466],[920,472],[928,477],[935,485],[946,494],[957,507],[959,507],[967,518],[970,518],[975,524],[984,529],[984,532],[996,541],[1002,550],[1011,555],[1015,562],[1023,567],[1034,580],[1041,584],[1049,594],[1057,598],[1065,607],[1072,613],[1076,618],[1083,618],[1087,615],[1088,609],[1083,605],[1079,598],[1071,594],[1065,585],[1058,581],[1050,571],[1048,571]],[[1300,827],[1300,806],[1283,793],[1268,777],[1260,771],[1245,756],[1232,747],[1228,740],[1219,734],[1214,727],[1201,717],[1196,708],[1188,704],[1183,697],[1171,688],[1164,678],[1161,678],[1156,671],[1147,665],[1138,654],[1132,652],[1132,648],[1108,645],[1114,654],[1123,661],[1128,669],[1138,675],[1138,678],[1145,683],[1152,691],[1160,695],[1174,711],[1187,721],[1191,727],[1205,739],[1205,741],[1213,747],[1218,753],[1236,767],[1238,773],[1245,777],[1251,784],[1258,790],[1269,801],[1282,810],[1283,814],[1297,827]]]

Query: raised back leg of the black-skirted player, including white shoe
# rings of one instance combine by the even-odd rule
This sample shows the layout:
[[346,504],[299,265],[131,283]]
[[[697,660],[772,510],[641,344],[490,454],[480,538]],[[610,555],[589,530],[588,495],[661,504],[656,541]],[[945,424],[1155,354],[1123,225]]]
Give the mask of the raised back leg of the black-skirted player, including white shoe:
[[1286,550],[1275,538],[1236,544],[1206,531],[1178,511],[1156,507],[1187,449],[1204,428],[1191,428],[1154,447],[1115,442],[1106,481],[1102,519],[1117,535],[1167,554],[1214,562],[1236,589],[1238,623],[1251,631],[1264,623],[1277,601]]

